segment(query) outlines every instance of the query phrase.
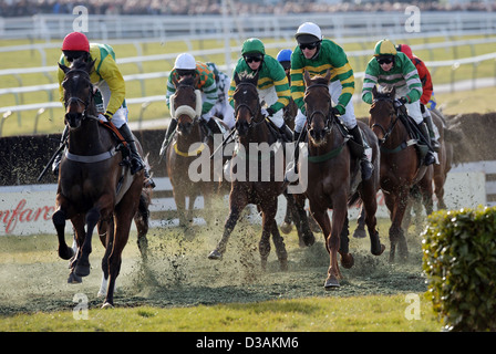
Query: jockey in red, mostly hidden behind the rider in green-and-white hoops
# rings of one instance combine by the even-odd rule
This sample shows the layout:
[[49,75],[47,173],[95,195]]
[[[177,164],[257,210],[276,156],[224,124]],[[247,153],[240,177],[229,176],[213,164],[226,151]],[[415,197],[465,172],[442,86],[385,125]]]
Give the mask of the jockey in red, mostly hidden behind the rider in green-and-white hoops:
[[428,105],[428,102],[432,97],[433,86],[432,86],[432,79],[431,73],[428,72],[427,66],[425,66],[425,63],[414,55],[412,53],[412,49],[407,44],[397,44],[396,51],[403,52],[409,56],[409,59],[412,61],[412,63],[415,65],[416,71],[418,72],[418,77],[422,82],[422,96],[420,98],[421,101],[421,111],[422,116],[424,117],[424,122],[427,125],[428,134],[431,136],[431,146],[435,149],[440,149],[440,143],[437,142],[434,133],[434,125],[432,123],[432,116],[431,112],[426,110],[425,107]]

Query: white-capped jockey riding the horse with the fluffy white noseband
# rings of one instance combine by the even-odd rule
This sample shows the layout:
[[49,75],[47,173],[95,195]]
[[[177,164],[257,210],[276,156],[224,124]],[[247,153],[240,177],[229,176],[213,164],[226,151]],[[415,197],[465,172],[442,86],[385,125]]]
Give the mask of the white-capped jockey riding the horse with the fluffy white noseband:
[[[218,100],[217,85],[215,82],[215,75],[213,71],[202,62],[197,62],[195,56],[188,53],[182,53],[176,56],[174,69],[170,71],[167,80],[167,93],[165,94],[165,102],[170,110],[170,96],[176,93],[174,86],[174,80],[178,81],[185,76],[198,77],[196,90],[202,92],[202,114],[200,119],[204,121],[207,127],[213,134],[221,134],[220,128],[217,126],[215,119],[210,119],[214,116],[215,104]],[[170,143],[172,135],[177,126],[177,119],[172,117],[170,124],[165,133],[164,142],[162,143],[161,156],[165,153],[168,144]]]

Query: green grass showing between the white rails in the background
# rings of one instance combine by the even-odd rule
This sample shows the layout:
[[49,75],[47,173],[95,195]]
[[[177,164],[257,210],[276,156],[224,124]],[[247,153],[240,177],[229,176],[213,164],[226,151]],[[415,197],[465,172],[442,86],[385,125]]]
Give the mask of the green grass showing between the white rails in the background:
[[[461,40],[461,39],[472,39],[472,38],[480,38],[480,37],[464,37],[464,38],[453,38],[451,40]],[[417,39],[417,40],[407,40],[397,41],[405,42],[411,45],[420,44],[420,43],[436,43],[445,41],[445,38],[432,38],[428,40]],[[272,40],[265,40],[266,43],[272,42]],[[0,45],[17,45],[17,44],[25,44],[28,41],[10,41],[3,40],[0,42]],[[347,52],[358,51],[358,50],[368,50],[370,49],[372,53],[372,49],[374,46],[374,42],[370,43],[344,43],[343,48]],[[192,41],[190,43],[193,50],[199,49],[211,49],[211,48],[223,48],[224,42],[217,40],[207,40],[207,41]],[[239,43],[231,41],[231,45],[239,45]],[[276,56],[280,49],[270,49],[268,53]],[[165,53],[179,53],[183,51],[189,51],[187,44],[183,41],[170,41],[166,43],[146,43],[142,44],[142,54],[143,55],[152,55],[152,54],[165,54]],[[117,58],[126,58],[126,56],[135,56],[138,55],[138,51],[133,44],[120,44],[115,45],[115,52]],[[420,58],[426,61],[441,61],[441,60],[452,60],[456,58],[468,58],[474,55],[480,55],[485,53],[494,52],[494,45],[485,45],[477,44],[474,46],[469,45],[461,45],[457,48],[451,49],[434,49],[432,51],[417,51]],[[12,53],[1,53],[1,62],[2,69],[14,69],[14,67],[31,67],[31,66],[40,66],[42,64],[41,54],[38,51],[22,51],[22,52],[12,52]],[[232,61],[237,60],[238,53],[232,53]],[[22,60],[20,60],[22,58]],[[60,58],[60,50],[58,48],[46,50],[46,63],[49,65],[55,65],[56,61]],[[350,58],[350,62],[355,72],[361,72],[365,70],[366,62],[370,56],[361,56],[361,58]],[[223,64],[225,62],[224,54],[211,55],[209,58],[198,56],[199,61],[214,61],[216,63]],[[174,61],[155,61],[155,62],[145,62],[140,67],[136,64],[125,64],[121,65],[121,71],[124,75],[127,74],[136,74],[141,71],[143,72],[161,72],[168,71],[173,67]],[[476,77],[493,77],[495,76],[495,65],[490,61],[486,61],[476,66],[475,76]],[[458,67],[454,72],[454,80],[462,81],[472,79],[474,75],[474,66],[473,65],[463,65]],[[433,70],[433,82],[434,85],[450,83],[452,80],[452,69],[451,67],[442,67],[437,70]],[[230,74],[230,73],[229,73]],[[48,84],[56,82],[56,73],[46,73],[46,76],[43,74],[21,74],[19,77],[14,77],[13,75],[2,76],[2,81],[0,82],[0,88],[2,87],[17,87],[19,86],[18,79],[22,80],[23,86],[30,85],[39,85],[39,84]],[[356,83],[356,92],[361,90],[361,83]],[[152,95],[163,95],[165,94],[165,80],[148,80],[145,82],[142,87],[140,82],[128,82],[126,85],[126,96],[127,97],[141,97],[141,96],[152,96]],[[469,112],[484,112],[480,110],[494,111],[496,107],[494,105],[494,101],[492,100],[493,90],[487,88],[477,93],[477,96],[471,97],[476,100],[476,102],[486,102],[484,104],[484,108],[480,108],[479,105],[474,104],[463,104],[464,110],[469,110]],[[445,101],[452,102],[452,95],[438,95],[437,102],[440,104]],[[13,95],[3,95],[1,97],[2,106],[17,105],[18,103],[14,100]],[[48,102],[48,101],[58,101],[59,93],[56,90],[51,92],[49,95],[45,92],[34,92],[20,96],[19,104],[29,104],[37,102]],[[457,101],[459,102],[459,100]],[[474,101],[472,101],[474,102]],[[456,105],[456,104],[455,104]],[[356,115],[358,116],[366,116],[366,105],[359,104],[356,105]],[[450,106],[451,107],[451,106]],[[457,108],[456,108],[457,110]],[[478,111],[476,111],[478,110]],[[130,122],[136,122],[140,118],[141,105],[130,105]],[[37,115],[37,111],[23,112],[20,115],[12,114],[3,122],[2,126],[2,136],[11,136],[11,135],[22,135],[22,134],[32,134],[34,131],[34,117]],[[168,116],[168,110],[166,108],[165,103],[156,102],[151,104],[145,113],[144,119],[157,119]],[[37,127],[37,133],[54,133],[61,132],[63,128],[63,111],[61,108],[56,110],[48,110],[40,116],[40,122]],[[165,124],[165,123],[164,123]]]

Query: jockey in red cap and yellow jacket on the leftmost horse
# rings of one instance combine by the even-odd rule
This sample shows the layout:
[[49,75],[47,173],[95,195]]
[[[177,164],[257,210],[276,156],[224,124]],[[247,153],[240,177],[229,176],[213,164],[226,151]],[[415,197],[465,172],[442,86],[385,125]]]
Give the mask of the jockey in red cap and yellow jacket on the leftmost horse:
[[[122,136],[127,142],[131,148],[131,174],[145,168],[145,163],[141,158],[136,144],[127,126],[127,106],[125,101],[126,85],[121,71],[115,63],[115,53],[112,46],[107,44],[90,43],[86,35],[81,32],[69,33],[62,43],[63,54],[60,58],[60,63],[69,66],[75,59],[83,58],[86,62],[95,61],[94,71],[90,75],[92,84],[99,91],[95,93],[94,101],[96,111],[99,112],[99,119],[103,122],[112,122]],[[64,80],[64,72],[59,69],[59,90],[61,102],[63,102],[62,81]],[[102,97],[103,96],[103,97]],[[69,128],[65,126],[62,133],[62,142],[65,140]],[[52,171],[59,175],[59,165],[62,154],[58,155],[52,165]],[[145,169],[145,176],[149,177]],[[153,184],[152,180],[149,180]]]

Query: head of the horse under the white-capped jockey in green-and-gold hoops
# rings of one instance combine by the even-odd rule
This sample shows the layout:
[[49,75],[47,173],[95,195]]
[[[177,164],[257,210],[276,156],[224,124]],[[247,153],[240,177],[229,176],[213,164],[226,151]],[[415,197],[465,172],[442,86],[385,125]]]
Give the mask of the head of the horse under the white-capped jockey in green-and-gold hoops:
[[303,79],[307,86],[303,101],[307,110],[308,132],[313,144],[321,145],[326,143],[326,135],[331,123],[331,94],[329,93],[331,73],[328,70],[326,76],[310,77],[309,72],[304,71]]

